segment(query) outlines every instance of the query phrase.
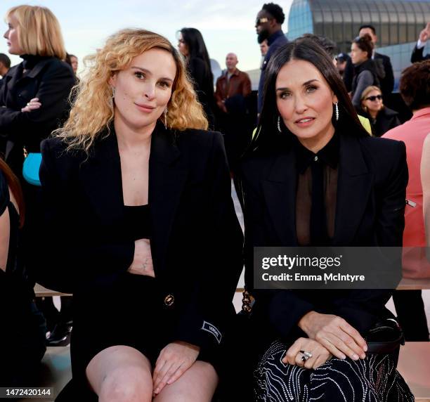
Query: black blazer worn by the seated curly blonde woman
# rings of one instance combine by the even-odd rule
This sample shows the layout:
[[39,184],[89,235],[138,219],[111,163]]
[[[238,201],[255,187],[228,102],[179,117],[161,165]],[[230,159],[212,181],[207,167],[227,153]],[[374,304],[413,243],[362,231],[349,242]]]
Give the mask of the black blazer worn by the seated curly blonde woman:
[[[98,139],[88,158],[66,152],[59,138],[41,148],[47,230],[40,282],[79,295],[115,281],[134,254],[134,242],[123,235],[115,131]],[[176,339],[217,346],[235,314],[232,301],[242,271],[242,231],[230,196],[223,138],[193,129],[175,134],[157,124],[149,163],[150,244],[165,293],[154,302],[167,304],[165,297],[174,297],[169,309],[177,322]]]

